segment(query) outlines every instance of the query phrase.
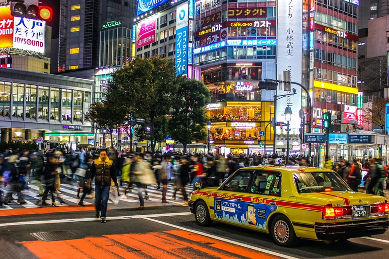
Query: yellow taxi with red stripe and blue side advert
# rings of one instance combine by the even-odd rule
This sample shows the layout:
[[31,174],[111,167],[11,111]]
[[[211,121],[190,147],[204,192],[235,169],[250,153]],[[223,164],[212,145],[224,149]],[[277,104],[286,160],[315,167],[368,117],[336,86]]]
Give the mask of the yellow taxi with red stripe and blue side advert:
[[198,189],[189,201],[197,224],[217,221],[256,230],[286,247],[301,239],[331,242],[383,234],[389,227],[385,197],[354,192],[328,169],[246,167],[219,187]]

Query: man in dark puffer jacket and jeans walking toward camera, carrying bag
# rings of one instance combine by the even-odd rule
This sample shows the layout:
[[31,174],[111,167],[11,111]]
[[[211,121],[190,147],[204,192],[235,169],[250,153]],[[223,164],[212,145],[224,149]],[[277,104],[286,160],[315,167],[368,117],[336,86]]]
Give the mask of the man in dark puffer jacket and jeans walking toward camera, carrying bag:
[[107,156],[106,150],[101,150],[99,158],[93,161],[90,168],[90,179],[95,178],[95,202],[96,218],[101,218],[101,223],[106,223],[106,210],[108,207],[109,190],[111,187],[111,179],[118,187],[116,169],[112,160]]

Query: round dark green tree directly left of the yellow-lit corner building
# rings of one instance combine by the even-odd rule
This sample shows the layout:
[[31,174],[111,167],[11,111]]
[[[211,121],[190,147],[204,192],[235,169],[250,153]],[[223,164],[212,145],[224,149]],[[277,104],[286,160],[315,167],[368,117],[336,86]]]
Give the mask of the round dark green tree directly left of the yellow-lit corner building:
[[186,150],[193,139],[205,139],[204,130],[208,118],[204,106],[211,101],[210,92],[200,81],[187,78],[179,79],[175,102],[172,106],[172,118],[167,128],[171,137],[178,140]]

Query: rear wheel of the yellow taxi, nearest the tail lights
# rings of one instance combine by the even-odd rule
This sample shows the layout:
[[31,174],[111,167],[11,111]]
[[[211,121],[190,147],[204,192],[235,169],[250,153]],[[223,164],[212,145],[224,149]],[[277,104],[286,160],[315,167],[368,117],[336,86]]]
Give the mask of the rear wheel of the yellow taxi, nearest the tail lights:
[[271,223],[270,234],[273,240],[281,246],[292,247],[299,242],[292,223],[283,215],[274,218]]

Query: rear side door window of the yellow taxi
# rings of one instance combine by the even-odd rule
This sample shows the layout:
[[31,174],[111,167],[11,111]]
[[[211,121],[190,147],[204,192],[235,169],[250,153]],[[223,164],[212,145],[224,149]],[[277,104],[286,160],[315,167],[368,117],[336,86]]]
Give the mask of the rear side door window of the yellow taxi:
[[262,195],[281,195],[281,173],[274,171],[257,171],[251,182],[249,193]]

